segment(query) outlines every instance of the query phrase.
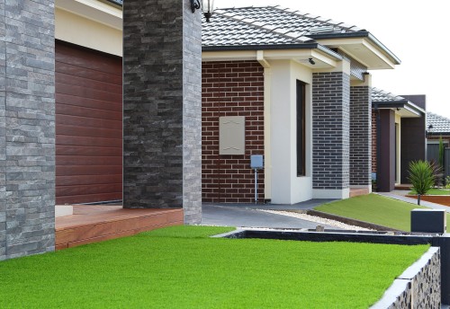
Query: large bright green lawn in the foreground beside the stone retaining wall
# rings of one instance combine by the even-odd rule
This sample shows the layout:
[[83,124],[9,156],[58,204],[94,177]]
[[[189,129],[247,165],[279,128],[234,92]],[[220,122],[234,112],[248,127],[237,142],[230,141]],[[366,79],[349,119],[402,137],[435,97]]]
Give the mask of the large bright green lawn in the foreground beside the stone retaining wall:
[[0,262],[1,308],[367,308],[428,246],[217,239],[176,226]]

